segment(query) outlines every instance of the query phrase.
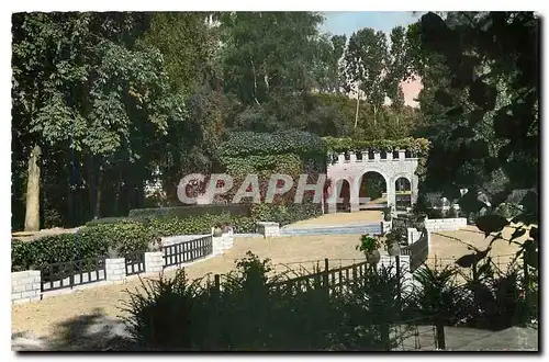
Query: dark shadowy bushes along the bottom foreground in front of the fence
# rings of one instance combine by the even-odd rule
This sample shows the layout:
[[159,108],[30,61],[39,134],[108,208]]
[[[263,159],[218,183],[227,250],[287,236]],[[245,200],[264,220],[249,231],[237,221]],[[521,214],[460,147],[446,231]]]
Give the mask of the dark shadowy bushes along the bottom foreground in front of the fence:
[[367,268],[328,293],[320,268],[273,274],[268,259],[249,251],[235,264],[219,284],[191,282],[179,271],[173,279],[144,282],[146,293],[130,292],[123,309],[135,348],[379,351],[401,347],[418,325],[501,330],[537,315],[525,308],[517,284],[511,283],[514,269],[484,268],[474,281],[457,283],[456,268],[424,268],[414,274],[417,286],[407,287],[394,265]]

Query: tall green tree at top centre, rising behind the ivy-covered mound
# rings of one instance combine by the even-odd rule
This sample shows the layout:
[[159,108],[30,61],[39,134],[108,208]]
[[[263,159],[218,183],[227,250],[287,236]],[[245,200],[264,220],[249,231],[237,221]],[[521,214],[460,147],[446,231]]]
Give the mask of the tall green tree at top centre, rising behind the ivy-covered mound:
[[321,21],[314,12],[221,16],[225,93],[238,102],[238,127],[267,132],[306,127]]

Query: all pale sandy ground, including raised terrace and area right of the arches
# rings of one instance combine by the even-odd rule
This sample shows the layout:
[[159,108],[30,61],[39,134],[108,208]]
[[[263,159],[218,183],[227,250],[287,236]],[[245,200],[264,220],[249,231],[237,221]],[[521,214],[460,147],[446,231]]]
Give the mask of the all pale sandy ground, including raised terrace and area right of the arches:
[[[354,223],[363,220],[363,213],[334,214],[324,215],[310,224],[320,223],[320,225],[334,225],[335,223]],[[318,224],[317,224],[318,225]],[[509,236],[513,230],[509,229],[505,236]],[[279,238],[235,238],[234,247],[224,256],[197,262],[186,268],[190,279],[203,276],[208,273],[226,273],[234,269],[234,262],[244,258],[246,251],[251,250],[259,258],[270,258],[274,264],[276,272],[287,271],[289,268],[299,269],[299,262],[312,269],[313,264],[324,258],[329,258],[330,267],[351,264],[363,260],[363,256],[355,249],[358,245],[359,235],[340,236],[295,236]],[[458,231],[440,231],[432,235],[432,250],[428,262],[433,262],[435,257],[438,262],[446,260],[447,263],[453,263],[453,260],[462,254],[469,253],[467,244],[457,241],[453,238],[460,238],[468,244],[474,245],[483,250],[489,239],[484,238],[475,227],[468,226]],[[501,262],[504,258],[511,258],[516,251],[516,246],[509,246],[506,241],[497,241],[493,245],[492,256],[500,257]],[[167,272],[167,276],[172,276],[173,271]],[[141,285],[138,279],[130,279],[125,284],[115,284],[103,287],[94,287],[74,294],[53,296],[41,302],[14,305],[12,307],[12,331],[31,331],[35,336],[46,337],[53,332],[59,323],[77,316],[92,314],[100,310],[107,316],[116,317],[122,314],[119,309],[121,301],[127,299],[126,290],[135,291]]]

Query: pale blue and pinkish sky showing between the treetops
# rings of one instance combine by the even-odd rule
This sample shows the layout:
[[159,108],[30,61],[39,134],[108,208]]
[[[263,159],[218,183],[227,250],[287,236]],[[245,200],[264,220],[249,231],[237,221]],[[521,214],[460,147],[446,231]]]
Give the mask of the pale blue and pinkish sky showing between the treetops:
[[[321,31],[333,35],[345,34],[349,38],[354,32],[362,27],[380,30],[389,35],[395,26],[415,23],[422,13],[414,14],[412,11],[334,11],[325,12],[324,15],[326,20],[321,26]],[[421,80],[402,82],[401,88],[404,93],[404,104],[417,106],[415,98],[422,89]]]

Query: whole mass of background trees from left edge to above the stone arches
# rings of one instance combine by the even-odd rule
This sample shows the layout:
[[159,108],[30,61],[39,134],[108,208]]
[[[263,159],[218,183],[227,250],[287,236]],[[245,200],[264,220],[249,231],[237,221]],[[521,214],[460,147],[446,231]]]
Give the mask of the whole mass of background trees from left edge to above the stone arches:
[[[373,124],[373,99],[357,110],[341,87],[346,36],[322,34],[322,22],[314,12],[15,13],[12,228],[178,206],[179,180],[220,171],[231,163],[221,156],[320,155],[314,135],[410,136],[422,116],[399,93],[402,29],[383,60],[393,103],[376,105]],[[292,142],[242,134],[283,131]],[[163,190],[149,195],[155,182]]]

